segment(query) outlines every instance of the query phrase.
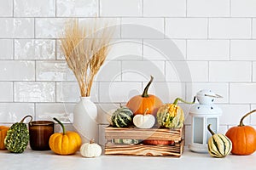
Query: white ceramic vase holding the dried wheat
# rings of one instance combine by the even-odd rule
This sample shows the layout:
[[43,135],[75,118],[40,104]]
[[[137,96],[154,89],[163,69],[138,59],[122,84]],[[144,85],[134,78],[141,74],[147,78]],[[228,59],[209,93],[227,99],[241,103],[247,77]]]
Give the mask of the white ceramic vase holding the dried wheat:
[[73,111],[73,127],[79,133],[82,142],[95,139],[98,142],[97,108],[90,97],[81,97]]

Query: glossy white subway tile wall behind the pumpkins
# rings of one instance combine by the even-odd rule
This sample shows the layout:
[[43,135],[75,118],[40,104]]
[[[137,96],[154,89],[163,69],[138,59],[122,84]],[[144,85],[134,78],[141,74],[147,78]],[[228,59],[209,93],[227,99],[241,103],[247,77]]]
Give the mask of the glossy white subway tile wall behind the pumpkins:
[[[59,38],[71,18],[98,18],[116,26],[91,91],[100,132],[106,113],[141,94],[153,75],[149,92],[165,103],[202,88],[222,95],[224,133],[256,108],[255,8],[254,0],[0,0],[0,123],[57,116],[73,129],[79,86]],[[188,143],[190,106],[182,107]],[[245,122],[255,127],[256,115]]]

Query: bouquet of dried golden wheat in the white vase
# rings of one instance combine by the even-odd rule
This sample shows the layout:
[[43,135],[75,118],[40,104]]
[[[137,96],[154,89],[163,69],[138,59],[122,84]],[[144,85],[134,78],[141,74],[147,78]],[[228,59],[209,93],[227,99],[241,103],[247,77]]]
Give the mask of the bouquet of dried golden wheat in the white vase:
[[92,82],[108,55],[112,36],[113,26],[102,26],[98,20],[84,25],[69,20],[65,26],[61,50],[79,82],[82,97],[90,96]]

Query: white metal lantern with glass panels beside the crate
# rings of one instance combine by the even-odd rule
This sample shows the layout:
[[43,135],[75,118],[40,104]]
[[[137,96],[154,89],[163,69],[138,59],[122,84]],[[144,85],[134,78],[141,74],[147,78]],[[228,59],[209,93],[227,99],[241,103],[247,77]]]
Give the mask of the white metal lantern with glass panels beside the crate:
[[192,116],[189,150],[207,152],[207,142],[212,136],[207,131],[207,125],[211,124],[212,131],[218,133],[219,116],[222,114],[221,109],[213,102],[214,99],[222,97],[207,89],[201,90],[195,97],[199,104],[193,105],[189,111]]

